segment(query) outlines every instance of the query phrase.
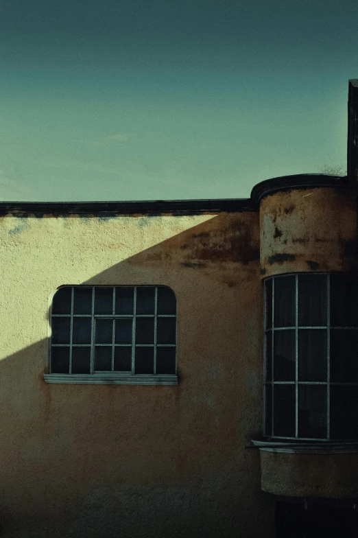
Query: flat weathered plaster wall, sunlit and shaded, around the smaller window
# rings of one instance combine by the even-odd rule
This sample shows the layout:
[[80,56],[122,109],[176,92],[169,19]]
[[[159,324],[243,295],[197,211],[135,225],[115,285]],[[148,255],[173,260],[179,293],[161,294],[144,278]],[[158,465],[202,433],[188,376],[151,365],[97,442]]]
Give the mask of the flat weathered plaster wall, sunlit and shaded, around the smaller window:
[[[259,216],[0,220],[5,537],[273,535],[260,489]],[[178,386],[46,384],[64,284],[178,297]]]

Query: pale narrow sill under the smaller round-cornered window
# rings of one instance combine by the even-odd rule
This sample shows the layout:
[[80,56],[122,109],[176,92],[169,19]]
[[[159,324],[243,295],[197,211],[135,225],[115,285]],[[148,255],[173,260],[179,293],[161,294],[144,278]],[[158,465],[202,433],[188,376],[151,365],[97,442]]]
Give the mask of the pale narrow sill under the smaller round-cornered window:
[[105,373],[45,373],[46,383],[97,385],[178,385],[178,375]]

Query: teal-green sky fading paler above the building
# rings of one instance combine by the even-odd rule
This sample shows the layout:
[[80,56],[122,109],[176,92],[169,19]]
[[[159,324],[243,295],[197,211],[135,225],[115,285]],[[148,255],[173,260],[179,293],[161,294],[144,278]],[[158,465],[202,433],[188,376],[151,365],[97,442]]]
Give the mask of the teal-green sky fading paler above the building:
[[0,201],[346,170],[357,0],[0,0]]

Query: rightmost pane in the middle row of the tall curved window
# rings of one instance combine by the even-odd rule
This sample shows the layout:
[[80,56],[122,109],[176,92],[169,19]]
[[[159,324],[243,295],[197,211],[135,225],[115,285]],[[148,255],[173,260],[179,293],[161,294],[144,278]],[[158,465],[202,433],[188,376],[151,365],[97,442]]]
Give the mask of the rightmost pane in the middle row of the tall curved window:
[[331,329],[331,382],[358,382],[358,331]]

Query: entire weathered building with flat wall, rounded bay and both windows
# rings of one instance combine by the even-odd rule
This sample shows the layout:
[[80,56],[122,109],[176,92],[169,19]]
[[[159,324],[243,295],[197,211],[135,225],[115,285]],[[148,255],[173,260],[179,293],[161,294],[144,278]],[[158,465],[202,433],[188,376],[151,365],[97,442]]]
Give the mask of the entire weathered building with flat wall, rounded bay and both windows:
[[348,163],[248,200],[0,203],[1,536],[355,536]]

